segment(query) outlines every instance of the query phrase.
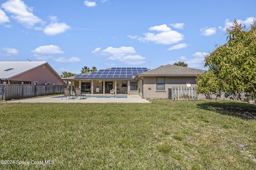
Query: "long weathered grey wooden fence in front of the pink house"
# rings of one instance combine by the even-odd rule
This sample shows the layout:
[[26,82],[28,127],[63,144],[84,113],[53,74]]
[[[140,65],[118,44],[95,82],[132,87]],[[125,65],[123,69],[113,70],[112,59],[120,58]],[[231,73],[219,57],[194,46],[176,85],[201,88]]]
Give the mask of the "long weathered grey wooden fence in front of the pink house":
[[65,85],[0,84],[0,100],[63,94]]

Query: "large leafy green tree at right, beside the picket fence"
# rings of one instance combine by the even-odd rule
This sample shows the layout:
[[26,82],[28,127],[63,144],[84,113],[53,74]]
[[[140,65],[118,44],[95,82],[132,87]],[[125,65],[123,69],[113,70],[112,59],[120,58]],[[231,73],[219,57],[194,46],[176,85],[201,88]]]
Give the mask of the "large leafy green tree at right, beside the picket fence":
[[215,51],[205,56],[209,70],[197,77],[197,91],[202,94],[256,93],[256,21],[250,29],[234,20],[227,28],[227,43],[216,45]]

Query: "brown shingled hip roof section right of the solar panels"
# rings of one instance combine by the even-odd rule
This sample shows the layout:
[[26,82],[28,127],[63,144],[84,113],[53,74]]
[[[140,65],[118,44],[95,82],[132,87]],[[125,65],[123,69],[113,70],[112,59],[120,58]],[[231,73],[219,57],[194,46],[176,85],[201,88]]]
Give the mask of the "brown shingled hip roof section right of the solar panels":
[[205,72],[206,70],[168,64],[143,72],[138,74],[138,76],[196,76]]

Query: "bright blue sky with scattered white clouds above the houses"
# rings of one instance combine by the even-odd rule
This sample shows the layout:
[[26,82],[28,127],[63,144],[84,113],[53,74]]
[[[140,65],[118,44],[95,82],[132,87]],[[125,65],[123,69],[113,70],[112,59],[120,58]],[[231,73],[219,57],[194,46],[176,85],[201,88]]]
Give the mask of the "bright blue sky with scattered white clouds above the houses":
[[59,74],[178,61],[207,70],[204,54],[255,11],[255,0],[0,0],[0,61],[47,61]]

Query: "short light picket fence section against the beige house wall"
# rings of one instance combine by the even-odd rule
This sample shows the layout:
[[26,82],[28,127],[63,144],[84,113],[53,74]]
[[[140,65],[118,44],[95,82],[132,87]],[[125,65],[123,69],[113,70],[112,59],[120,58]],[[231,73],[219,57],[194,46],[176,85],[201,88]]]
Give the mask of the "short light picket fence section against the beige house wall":
[[198,100],[196,87],[172,87],[168,88],[168,98],[171,100]]

